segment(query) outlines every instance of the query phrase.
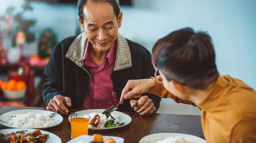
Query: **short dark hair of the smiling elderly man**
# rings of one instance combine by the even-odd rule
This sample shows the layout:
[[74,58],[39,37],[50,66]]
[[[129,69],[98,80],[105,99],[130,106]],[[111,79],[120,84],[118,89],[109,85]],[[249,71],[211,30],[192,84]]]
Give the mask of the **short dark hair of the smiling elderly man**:
[[77,1],[78,16],[81,18],[82,21],[84,21],[83,9],[84,9],[86,3],[89,1],[94,2],[94,3],[99,3],[99,2],[110,3],[112,5],[115,15],[118,19],[118,14],[121,11],[120,5],[119,5],[119,0],[78,0]]

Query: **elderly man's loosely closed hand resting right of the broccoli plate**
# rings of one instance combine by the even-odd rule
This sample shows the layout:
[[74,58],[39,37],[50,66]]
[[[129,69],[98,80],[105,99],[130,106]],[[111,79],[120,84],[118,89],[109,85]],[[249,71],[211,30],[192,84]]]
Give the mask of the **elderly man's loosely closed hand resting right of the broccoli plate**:
[[151,115],[156,111],[156,107],[151,99],[148,96],[142,96],[139,100],[131,100],[131,107],[134,108],[134,111],[138,112],[140,115]]

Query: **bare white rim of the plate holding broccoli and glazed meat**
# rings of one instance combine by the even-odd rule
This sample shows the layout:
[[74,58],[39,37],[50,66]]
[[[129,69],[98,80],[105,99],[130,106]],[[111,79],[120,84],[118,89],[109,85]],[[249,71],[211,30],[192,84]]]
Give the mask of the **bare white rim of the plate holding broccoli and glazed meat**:
[[[96,110],[99,110],[100,112],[106,110],[106,109],[87,109],[87,110],[80,110],[80,111],[77,111],[75,113],[82,113],[82,111],[92,111],[92,112],[95,112]],[[90,112],[91,113],[91,112]],[[113,111],[112,113],[118,113],[118,114],[122,114],[122,115],[126,115],[130,120],[128,123],[125,122],[125,124],[123,124],[122,126],[117,126],[117,127],[110,127],[110,128],[93,128],[93,127],[89,127],[90,130],[111,130],[111,129],[116,129],[116,128],[121,128],[121,127],[124,127],[128,124],[130,124],[132,122],[132,118],[125,114],[125,113],[122,113],[122,112],[119,112],[119,111]]]

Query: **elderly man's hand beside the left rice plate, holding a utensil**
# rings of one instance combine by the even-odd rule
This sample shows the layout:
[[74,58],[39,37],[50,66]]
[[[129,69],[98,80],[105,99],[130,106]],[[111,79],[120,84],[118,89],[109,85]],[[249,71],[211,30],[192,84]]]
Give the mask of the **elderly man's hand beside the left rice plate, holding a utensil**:
[[71,99],[69,97],[55,95],[53,99],[51,99],[50,102],[48,103],[48,106],[46,107],[46,109],[53,112],[57,111],[62,115],[68,115],[69,110],[66,107],[66,105],[71,107]]

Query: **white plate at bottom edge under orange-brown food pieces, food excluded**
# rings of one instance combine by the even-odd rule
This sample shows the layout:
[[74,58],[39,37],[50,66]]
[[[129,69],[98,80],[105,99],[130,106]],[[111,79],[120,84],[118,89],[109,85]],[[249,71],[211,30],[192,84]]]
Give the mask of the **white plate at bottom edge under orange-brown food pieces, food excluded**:
[[[78,141],[83,141],[84,143],[90,143],[90,141],[92,141],[92,135],[81,135],[78,136],[70,141],[68,141],[67,143],[77,143]],[[108,138],[112,138],[114,139],[117,143],[124,143],[124,139],[118,136],[104,136],[103,135],[103,140],[108,139]]]

